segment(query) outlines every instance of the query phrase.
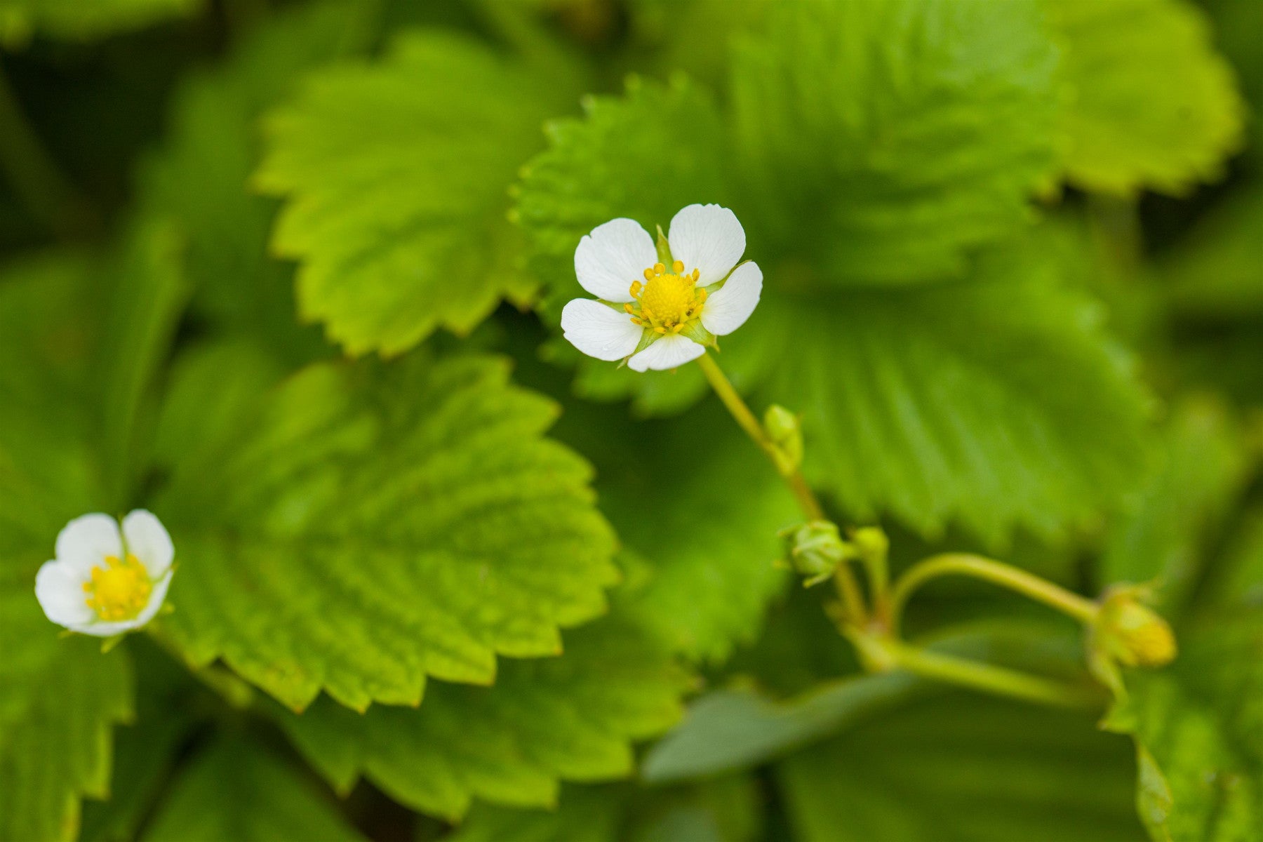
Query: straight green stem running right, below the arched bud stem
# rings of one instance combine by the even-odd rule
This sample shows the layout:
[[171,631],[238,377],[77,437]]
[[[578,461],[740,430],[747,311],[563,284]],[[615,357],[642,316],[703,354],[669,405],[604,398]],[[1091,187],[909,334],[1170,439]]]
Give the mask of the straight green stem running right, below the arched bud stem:
[[884,649],[895,665],[926,678],[1055,707],[1092,708],[1100,704],[1100,698],[1089,689],[1048,678],[917,649],[894,640],[888,641]]

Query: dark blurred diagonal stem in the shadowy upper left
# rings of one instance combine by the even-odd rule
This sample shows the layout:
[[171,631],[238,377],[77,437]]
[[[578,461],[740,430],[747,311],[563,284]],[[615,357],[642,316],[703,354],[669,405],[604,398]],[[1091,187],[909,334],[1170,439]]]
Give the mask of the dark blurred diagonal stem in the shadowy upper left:
[[0,66],[0,169],[39,222],[73,237],[91,222],[87,203],[44,150]]

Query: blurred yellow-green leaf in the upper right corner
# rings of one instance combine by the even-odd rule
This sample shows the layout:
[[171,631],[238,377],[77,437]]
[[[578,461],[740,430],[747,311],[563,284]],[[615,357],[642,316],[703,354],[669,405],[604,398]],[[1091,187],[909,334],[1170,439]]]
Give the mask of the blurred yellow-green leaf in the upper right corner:
[[1244,105],[1185,0],[1046,0],[1071,100],[1061,130],[1085,189],[1183,194],[1219,178],[1240,144]]

